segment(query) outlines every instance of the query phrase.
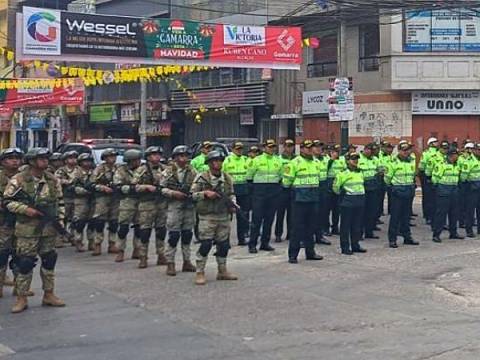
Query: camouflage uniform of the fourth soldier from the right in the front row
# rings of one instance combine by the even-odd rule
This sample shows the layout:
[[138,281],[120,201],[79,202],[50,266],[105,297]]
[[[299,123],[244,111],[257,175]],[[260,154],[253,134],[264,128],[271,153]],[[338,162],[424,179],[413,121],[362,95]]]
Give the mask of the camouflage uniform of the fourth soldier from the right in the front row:
[[138,196],[135,192],[135,169],[128,165],[120,165],[113,174],[113,185],[120,193],[120,205],[118,211],[117,248],[124,252],[127,245],[127,235],[130,224],[134,226],[133,247],[139,246],[138,234]]

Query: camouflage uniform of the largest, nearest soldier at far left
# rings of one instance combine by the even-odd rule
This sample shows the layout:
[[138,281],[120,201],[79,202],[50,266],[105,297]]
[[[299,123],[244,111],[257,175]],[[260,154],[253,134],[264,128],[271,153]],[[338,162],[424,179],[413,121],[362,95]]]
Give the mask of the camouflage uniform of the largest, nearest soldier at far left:
[[[33,205],[18,197],[19,190],[32,199]],[[9,211],[16,214],[16,265],[19,274],[16,277],[16,288],[19,296],[27,296],[32,282],[33,268],[37,255],[41,259],[40,276],[43,290],[53,292],[55,284],[55,251],[56,230],[42,218],[31,218],[26,215],[30,206],[41,206],[62,221],[65,216],[63,192],[60,182],[50,173],[45,172],[42,178],[32,176],[30,169],[13,176],[4,193],[4,200]],[[46,211],[46,210],[43,210]]]

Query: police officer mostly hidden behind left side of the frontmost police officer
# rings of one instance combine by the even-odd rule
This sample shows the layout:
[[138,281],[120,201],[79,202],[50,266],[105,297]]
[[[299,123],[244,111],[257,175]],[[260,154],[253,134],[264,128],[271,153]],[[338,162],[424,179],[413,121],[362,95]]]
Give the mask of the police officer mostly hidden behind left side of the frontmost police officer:
[[[283,152],[279,156],[280,161],[282,162],[283,168],[287,166],[290,161],[295,158],[295,141],[291,139],[285,140],[283,143]],[[283,169],[282,169],[283,173]],[[290,239],[290,218],[291,218],[291,201],[290,201],[290,189],[283,188],[283,191],[280,193],[277,204],[277,214],[275,220],[275,242],[282,242],[283,235],[283,225],[285,221],[285,215],[287,215],[287,234],[286,239]]]

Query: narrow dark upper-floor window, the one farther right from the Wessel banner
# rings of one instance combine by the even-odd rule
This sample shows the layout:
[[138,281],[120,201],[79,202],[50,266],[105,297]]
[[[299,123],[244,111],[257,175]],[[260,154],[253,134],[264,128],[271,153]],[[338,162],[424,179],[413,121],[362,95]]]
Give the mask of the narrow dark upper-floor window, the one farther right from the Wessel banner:
[[358,71],[378,71],[380,68],[380,28],[378,24],[359,26],[359,63]]

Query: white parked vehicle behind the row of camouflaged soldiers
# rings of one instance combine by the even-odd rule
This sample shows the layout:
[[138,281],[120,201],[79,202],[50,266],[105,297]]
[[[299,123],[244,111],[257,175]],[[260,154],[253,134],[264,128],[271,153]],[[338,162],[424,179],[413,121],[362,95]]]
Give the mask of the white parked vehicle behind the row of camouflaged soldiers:
[[117,150],[117,163],[123,162],[123,153],[126,150],[139,149],[143,151],[142,147],[139,144],[135,144],[132,139],[84,139],[80,143],[60,144],[55,151],[62,154],[71,150],[75,150],[79,154],[89,153],[93,155],[95,164],[99,164],[102,162],[102,152],[107,148]]

